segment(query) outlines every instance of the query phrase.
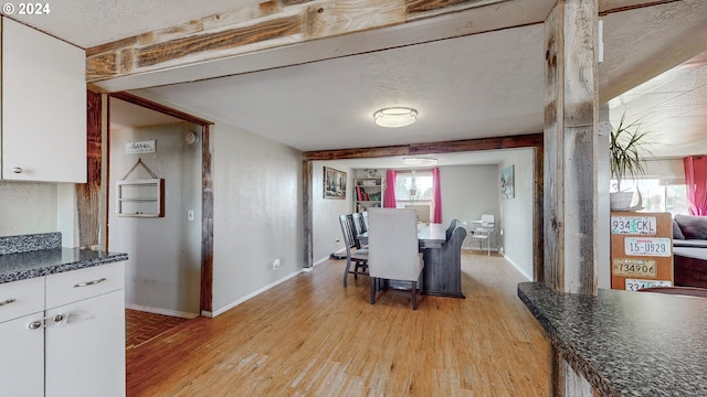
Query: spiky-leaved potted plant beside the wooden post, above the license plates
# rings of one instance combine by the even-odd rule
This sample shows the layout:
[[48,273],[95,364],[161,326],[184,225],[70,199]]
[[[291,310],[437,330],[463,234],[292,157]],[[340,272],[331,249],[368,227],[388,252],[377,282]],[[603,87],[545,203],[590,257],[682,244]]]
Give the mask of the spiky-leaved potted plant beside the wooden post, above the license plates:
[[621,181],[626,176],[636,179],[645,174],[644,154],[651,153],[648,131],[641,129],[636,120],[626,125],[626,114],[621,116],[619,127],[611,132],[609,143],[609,161],[611,176],[616,180],[616,189],[621,192]]

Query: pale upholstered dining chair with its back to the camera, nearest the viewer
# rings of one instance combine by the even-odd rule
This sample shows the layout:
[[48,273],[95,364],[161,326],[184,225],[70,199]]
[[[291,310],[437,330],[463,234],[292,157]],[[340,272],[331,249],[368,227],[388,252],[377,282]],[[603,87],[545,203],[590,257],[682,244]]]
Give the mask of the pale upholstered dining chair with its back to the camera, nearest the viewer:
[[414,210],[368,211],[368,275],[371,304],[376,303],[378,279],[410,281],[412,310],[418,309],[418,281],[424,262],[418,251],[418,214]]

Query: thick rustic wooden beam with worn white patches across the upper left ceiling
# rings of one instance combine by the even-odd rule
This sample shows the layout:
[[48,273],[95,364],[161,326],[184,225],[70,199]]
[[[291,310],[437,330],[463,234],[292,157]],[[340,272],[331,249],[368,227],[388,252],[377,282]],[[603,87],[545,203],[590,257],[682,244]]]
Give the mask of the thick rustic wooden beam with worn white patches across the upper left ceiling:
[[86,50],[86,81],[214,61],[509,0],[270,0]]

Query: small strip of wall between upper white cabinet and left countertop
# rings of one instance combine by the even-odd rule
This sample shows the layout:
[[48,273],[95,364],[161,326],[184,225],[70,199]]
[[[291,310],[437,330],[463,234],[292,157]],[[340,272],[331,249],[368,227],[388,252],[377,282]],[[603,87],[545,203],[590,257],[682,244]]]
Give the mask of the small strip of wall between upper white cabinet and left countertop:
[[0,236],[57,232],[55,183],[0,182]]

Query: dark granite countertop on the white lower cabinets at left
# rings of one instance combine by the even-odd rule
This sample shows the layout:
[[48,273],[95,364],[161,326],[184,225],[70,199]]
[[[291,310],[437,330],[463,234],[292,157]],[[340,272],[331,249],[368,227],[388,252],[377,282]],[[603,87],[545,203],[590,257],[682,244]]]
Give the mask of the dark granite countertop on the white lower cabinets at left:
[[127,254],[49,248],[0,255],[0,283],[127,260]]

